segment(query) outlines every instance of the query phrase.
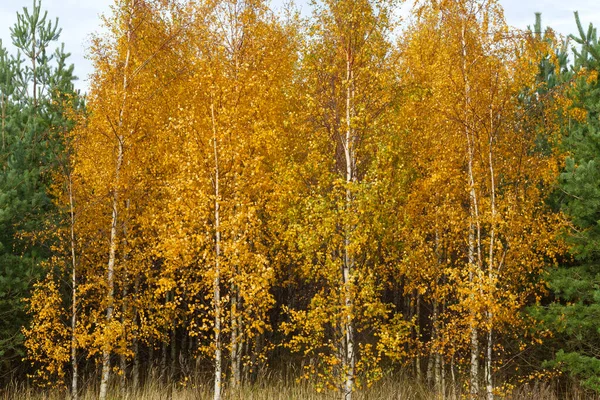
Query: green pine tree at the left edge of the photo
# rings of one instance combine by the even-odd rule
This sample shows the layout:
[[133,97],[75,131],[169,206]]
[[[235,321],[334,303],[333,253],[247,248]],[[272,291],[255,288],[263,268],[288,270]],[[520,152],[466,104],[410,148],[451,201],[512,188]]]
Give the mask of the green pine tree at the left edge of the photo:
[[0,44],[0,371],[11,371],[24,355],[21,327],[27,325],[23,299],[49,255],[37,233],[53,212],[48,196],[61,151],[58,127],[68,124],[63,102],[74,94],[73,66],[60,36],[34,1],[17,13],[11,29],[16,55]]

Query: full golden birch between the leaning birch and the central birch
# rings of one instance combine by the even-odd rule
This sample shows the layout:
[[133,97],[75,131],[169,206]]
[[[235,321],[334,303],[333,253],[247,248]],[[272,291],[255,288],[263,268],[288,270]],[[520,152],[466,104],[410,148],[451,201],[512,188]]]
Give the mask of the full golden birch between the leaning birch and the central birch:
[[[214,362],[218,399],[227,372],[231,389],[239,388],[242,367],[252,367],[250,353],[262,351],[258,336],[270,329],[265,316],[274,275],[265,245],[266,201],[273,191],[272,142],[284,117],[278,111],[295,54],[286,37],[293,32],[265,2],[198,3],[191,13],[193,68],[172,122],[177,162],[169,193],[181,201],[161,218],[162,226],[178,229],[159,251],[169,269],[194,266],[185,278],[194,321],[189,330]],[[185,143],[184,150],[175,143]],[[205,341],[208,333],[212,340]]]

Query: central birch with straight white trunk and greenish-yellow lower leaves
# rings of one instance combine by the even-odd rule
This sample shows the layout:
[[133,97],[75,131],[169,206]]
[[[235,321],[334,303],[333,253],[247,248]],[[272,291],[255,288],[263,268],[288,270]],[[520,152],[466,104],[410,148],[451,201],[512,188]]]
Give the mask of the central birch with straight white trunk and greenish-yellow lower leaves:
[[[357,335],[363,324],[387,313],[375,295],[380,289],[373,287],[375,275],[365,266],[372,238],[358,215],[375,157],[369,144],[382,135],[381,111],[390,99],[391,90],[380,85],[385,87],[389,78],[393,4],[314,4],[302,65],[307,106],[298,129],[306,145],[295,178],[302,194],[291,205],[299,207],[299,219],[290,225],[290,234],[298,243],[299,276],[316,289],[306,310],[290,310],[292,323],[285,329],[293,333],[292,348],[318,359],[307,375],[325,371],[318,388],[337,387],[345,399],[352,398],[357,371],[367,368],[369,359],[370,348],[359,344]],[[371,296],[363,314],[364,291]]]

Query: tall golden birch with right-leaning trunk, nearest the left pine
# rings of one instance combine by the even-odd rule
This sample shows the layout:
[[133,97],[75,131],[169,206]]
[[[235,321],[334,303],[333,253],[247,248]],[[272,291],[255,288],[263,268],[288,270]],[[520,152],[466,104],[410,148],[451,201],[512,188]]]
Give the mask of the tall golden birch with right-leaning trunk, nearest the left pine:
[[[128,236],[136,231],[136,214],[143,212],[148,200],[146,187],[140,184],[144,175],[139,171],[152,170],[146,157],[156,147],[160,133],[157,127],[167,118],[157,105],[167,104],[163,100],[168,98],[168,91],[160,89],[173,79],[172,69],[167,66],[178,65],[172,63],[172,55],[177,50],[173,44],[180,29],[169,19],[170,11],[169,3],[117,3],[113,15],[106,19],[108,35],[94,40],[92,59],[96,72],[89,95],[89,115],[77,128],[75,168],[88,202],[82,224],[89,227],[81,233],[86,257],[100,262],[102,254],[107,256],[102,274],[105,280],[101,283],[104,296],[100,303],[88,303],[87,317],[95,314],[92,320],[103,321],[86,332],[88,339],[82,339],[91,355],[95,351],[101,353],[101,399],[107,396],[111,355],[115,350],[122,356],[131,354],[127,345],[131,318],[124,317],[130,310],[127,304],[131,297],[128,287],[132,271],[128,271],[127,260],[134,245],[144,244]],[[156,82],[157,76],[167,78],[166,82]],[[106,248],[101,245],[104,235]],[[92,271],[90,265],[86,272],[93,274]],[[101,319],[100,308],[104,310]]]

